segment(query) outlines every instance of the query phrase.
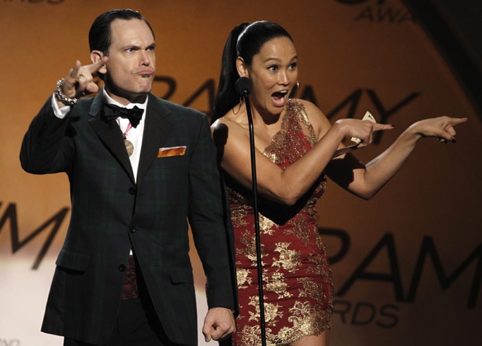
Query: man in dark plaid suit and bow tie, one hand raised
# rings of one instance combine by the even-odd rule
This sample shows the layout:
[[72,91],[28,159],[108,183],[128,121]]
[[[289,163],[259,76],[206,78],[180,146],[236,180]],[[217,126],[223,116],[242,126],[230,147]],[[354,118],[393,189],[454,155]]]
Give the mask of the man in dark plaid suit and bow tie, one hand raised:
[[[92,64],[77,61],[57,83],[21,148],[24,170],[70,180],[42,331],[64,345],[197,345],[189,221],[207,276],[202,332],[225,338],[235,275],[207,117],[150,93],[156,44],[138,12],[101,14],[89,41]],[[87,92],[98,94],[78,99]],[[113,105],[137,108],[137,119]]]

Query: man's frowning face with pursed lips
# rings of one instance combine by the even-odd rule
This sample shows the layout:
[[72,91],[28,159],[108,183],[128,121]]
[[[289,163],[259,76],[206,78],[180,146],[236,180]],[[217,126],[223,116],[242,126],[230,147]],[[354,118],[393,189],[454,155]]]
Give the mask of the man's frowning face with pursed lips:
[[143,100],[151,91],[156,70],[152,32],[140,19],[116,19],[111,23],[111,31],[105,88],[121,103]]

